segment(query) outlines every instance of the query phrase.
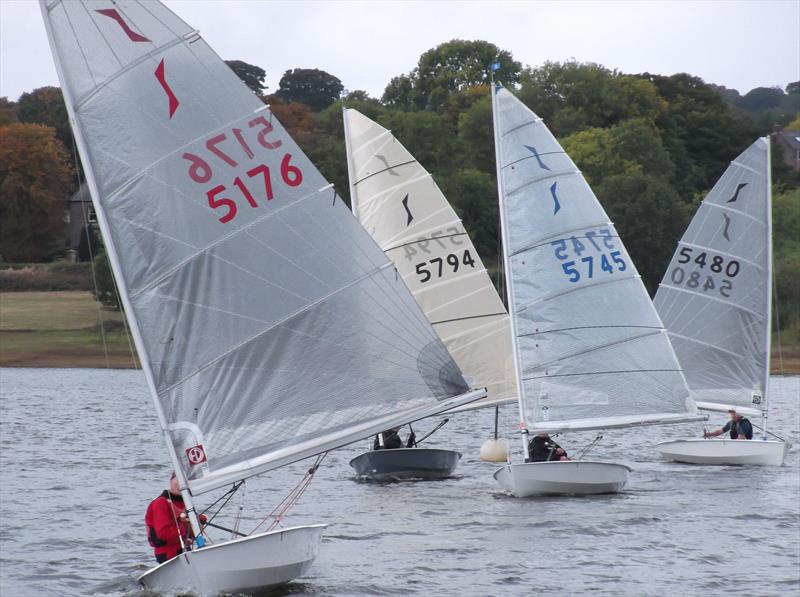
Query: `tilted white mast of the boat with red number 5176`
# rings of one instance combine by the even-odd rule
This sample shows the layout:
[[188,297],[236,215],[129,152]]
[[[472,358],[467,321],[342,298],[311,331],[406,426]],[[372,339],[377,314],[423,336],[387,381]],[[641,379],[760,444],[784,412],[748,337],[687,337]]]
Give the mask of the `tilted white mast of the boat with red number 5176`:
[[[56,5],[54,5],[56,6]],[[45,4],[45,0],[39,0],[39,7],[42,10],[42,17],[44,18],[44,26],[45,30],[47,31],[47,39],[50,42],[50,50],[53,54],[53,62],[55,63],[56,72],[58,73],[58,78],[61,81],[61,93],[64,95],[65,104],[67,106],[67,113],[69,115],[70,124],[72,128],[73,135],[75,137],[75,143],[78,145],[78,152],[82,157],[86,157],[89,155],[86,142],[83,138],[83,131],[78,126],[78,119],[75,114],[73,98],[71,97],[71,93],[69,90],[69,86],[66,84],[66,77],[64,76],[64,69],[61,64],[61,57],[58,53],[56,48],[55,40],[53,38],[53,30],[50,23],[50,15],[48,13],[47,6]],[[122,268],[120,266],[119,258],[117,257],[117,249],[114,244],[114,238],[110,233],[110,228],[108,224],[108,220],[106,219],[105,211],[103,210],[103,206],[99,199],[100,193],[97,187],[97,181],[95,180],[94,170],[92,168],[91,160],[84,159],[83,161],[83,171],[86,175],[86,184],[89,186],[90,195],[92,197],[92,204],[94,205],[95,213],[97,214],[97,223],[100,225],[100,232],[103,235],[103,242],[106,247],[106,251],[108,253],[108,260],[111,264],[111,270],[114,274],[114,278],[117,280],[117,288],[119,290],[120,300],[122,301],[122,306],[124,309],[124,314],[128,318],[128,323],[130,324],[131,335],[133,336],[133,342],[136,345],[136,351],[139,354],[139,360],[142,363],[142,371],[144,372],[145,379],[147,380],[147,387],[150,390],[150,397],[153,400],[153,406],[155,406],[156,414],[158,415],[158,422],[161,425],[161,430],[164,433],[164,441],[167,444],[167,452],[169,453],[170,461],[172,462],[172,468],[175,471],[175,475],[178,479],[178,483],[181,488],[181,495],[183,496],[184,504],[186,505],[186,512],[189,516],[189,521],[192,525],[192,530],[196,537],[200,536],[200,523],[197,518],[197,512],[194,509],[194,504],[192,502],[192,495],[188,489],[188,483],[186,480],[186,476],[183,474],[183,469],[180,466],[180,460],[178,458],[178,454],[175,451],[175,447],[170,440],[169,435],[169,428],[167,424],[166,416],[164,415],[164,410],[161,407],[161,403],[158,400],[158,391],[156,390],[155,380],[153,379],[152,370],[150,369],[150,360],[147,355],[147,351],[145,350],[145,345],[142,340],[141,330],[139,328],[139,323],[136,320],[136,314],[133,310],[133,307],[130,303],[128,298],[128,288],[125,285],[124,278],[121,275]]]

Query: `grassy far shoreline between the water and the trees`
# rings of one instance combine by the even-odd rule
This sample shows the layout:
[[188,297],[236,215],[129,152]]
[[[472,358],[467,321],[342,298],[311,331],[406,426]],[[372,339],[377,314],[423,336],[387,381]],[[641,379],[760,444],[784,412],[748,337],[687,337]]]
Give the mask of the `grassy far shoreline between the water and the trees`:
[[[103,344],[99,320],[106,335]],[[773,375],[800,374],[800,347],[772,351]],[[84,291],[0,292],[0,367],[134,369],[120,313]]]

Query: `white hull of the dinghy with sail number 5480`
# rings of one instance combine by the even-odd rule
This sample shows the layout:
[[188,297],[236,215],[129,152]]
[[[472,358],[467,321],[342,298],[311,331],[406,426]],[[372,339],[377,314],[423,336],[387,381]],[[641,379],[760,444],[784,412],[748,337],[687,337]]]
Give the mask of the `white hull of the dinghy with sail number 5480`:
[[774,440],[679,439],[656,444],[661,455],[692,464],[781,466],[788,442]]

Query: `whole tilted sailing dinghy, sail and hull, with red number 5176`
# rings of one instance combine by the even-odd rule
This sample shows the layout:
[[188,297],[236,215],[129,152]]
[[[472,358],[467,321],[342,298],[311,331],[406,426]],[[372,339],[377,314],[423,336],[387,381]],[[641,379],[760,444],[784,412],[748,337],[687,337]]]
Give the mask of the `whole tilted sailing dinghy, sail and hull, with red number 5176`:
[[[467,391],[391,262],[196,31],[157,2],[40,5],[195,536],[202,494],[485,394]],[[186,545],[140,581],[203,594],[284,583],[308,570],[323,526]]]

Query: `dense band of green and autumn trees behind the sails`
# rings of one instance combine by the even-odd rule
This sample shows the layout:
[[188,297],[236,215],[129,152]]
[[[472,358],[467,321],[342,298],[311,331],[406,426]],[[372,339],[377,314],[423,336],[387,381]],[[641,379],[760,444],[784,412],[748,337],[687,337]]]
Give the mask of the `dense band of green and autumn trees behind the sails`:
[[[697,205],[730,160],[776,125],[800,129],[800,82],[740,95],[686,73],[625,74],[575,61],[523,66],[510,52],[486,41],[452,40],[428,50],[409,72],[392,77],[380,98],[362,90],[345,91],[341,80],[325,71],[300,68],[286,71],[278,89],[269,93],[263,69],[228,61],[270,104],[345,200],[349,185],[342,105],[392,130],[432,172],[490,269],[498,262],[488,87],[493,63],[500,64],[496,79],[544,119],[583,171],[651,292]],[[6,165],[3,152],[32,144],[41,145],[39,154]],[[52,226],[36,218],[58,214],[55,201],[45,207],[45,195],[60,191],[63,203],[64,190],[74,190],[75,182],[69,181],[77,180],[80,167],[73,165],[73,156],[58,88],[36,89],[17,102],[0,98],[3,259],[58,255],[57,239],[42,233]],[[21,162],[26,159],[25,171]],[[774,144],[772,176],[782,327],[792,328],[800,339],[800,177],[784,165]],[[5,223],[9,219],[13,226]]]

